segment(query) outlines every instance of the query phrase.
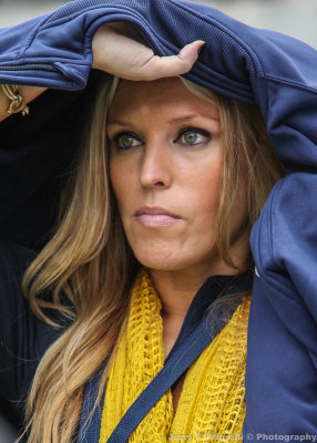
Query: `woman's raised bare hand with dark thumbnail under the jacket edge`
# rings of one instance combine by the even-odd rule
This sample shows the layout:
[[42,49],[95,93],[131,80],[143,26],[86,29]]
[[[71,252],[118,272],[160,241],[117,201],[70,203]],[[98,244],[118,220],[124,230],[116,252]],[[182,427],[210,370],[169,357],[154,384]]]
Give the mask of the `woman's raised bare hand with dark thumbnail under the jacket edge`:
[[188,72],[204,45],[202,40],[187,44],[177,55],[158,56],[147,48],[127,23],[102,25],[92,41],[92,68],[126,80],[155,80]]

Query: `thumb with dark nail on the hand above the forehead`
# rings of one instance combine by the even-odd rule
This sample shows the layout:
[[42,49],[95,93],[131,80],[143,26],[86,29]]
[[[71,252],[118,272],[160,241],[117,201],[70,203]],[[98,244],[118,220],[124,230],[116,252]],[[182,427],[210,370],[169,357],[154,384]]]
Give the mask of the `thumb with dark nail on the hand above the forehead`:
[[197,40],[186,44],[178,55],[153,56],[141,69],[140,74],[146,80],[161,79],[165,76],[176,76],[184,74],[193,68],[198,59],[201,48],[204,41]]

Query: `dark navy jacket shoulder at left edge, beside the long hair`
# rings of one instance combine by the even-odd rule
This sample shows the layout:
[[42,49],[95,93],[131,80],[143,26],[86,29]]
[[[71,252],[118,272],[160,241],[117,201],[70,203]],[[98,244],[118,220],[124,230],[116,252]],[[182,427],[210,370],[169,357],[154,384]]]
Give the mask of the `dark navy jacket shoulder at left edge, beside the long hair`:
[[[30,249],[0,240],[0,398],[20,423],[39,361],[62,332],[40,321],[22,295],[22,276],[34,256]],[[62,326],[57,315],[50,317]]]

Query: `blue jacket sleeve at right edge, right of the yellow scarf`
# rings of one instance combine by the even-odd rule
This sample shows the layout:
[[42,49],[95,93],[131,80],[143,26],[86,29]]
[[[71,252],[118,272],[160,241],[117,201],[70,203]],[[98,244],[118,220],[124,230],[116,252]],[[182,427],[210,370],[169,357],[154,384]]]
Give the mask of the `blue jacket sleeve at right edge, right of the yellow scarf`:
[[315,174],[286,176],[252,233],[244,435],[260,442],[317,439],[316,189]]

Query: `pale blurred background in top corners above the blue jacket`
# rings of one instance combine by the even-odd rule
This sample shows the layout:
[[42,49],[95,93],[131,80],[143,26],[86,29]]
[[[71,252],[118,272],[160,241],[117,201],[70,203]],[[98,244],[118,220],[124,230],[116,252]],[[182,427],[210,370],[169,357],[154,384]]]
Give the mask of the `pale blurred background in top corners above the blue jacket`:
[[[248,24],[274,29],[317,48],[317,0],[200,0]],[[62,0],[0,0],[0,28],[59,8]]]

